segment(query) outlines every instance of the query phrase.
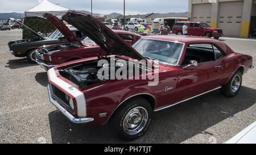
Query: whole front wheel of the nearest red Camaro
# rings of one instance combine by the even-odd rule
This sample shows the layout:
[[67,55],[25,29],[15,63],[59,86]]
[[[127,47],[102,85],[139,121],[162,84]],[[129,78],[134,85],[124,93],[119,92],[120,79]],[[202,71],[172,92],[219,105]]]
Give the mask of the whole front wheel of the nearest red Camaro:
[[123,103],[112,116],[110,124],[123,140],[141,137],[151,122],[152,107],[146,99],[134,98]]

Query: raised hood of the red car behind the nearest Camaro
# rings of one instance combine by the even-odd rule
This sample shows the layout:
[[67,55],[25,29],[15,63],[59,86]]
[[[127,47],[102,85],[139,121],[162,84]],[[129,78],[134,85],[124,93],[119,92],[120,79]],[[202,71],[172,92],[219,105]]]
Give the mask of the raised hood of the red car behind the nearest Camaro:
[[55,26],[65,37],[66,39],[71,43],[77,43],[79,45],[82,45],[81,41],[69,30],[67,26],[61,21],[57,16],[50,14],[50,13],[44,13],[44,18],[49,20]]

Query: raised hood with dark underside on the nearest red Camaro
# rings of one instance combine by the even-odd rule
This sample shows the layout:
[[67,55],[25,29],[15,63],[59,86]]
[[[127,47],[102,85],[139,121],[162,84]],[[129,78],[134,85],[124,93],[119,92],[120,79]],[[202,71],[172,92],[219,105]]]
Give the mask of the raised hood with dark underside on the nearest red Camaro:
[[92,39],[104,51],[113,55],[123,55],[137,60],[144,59],[125,40],[93,16],[70,10],[62,18],[85,33],[86,36]]

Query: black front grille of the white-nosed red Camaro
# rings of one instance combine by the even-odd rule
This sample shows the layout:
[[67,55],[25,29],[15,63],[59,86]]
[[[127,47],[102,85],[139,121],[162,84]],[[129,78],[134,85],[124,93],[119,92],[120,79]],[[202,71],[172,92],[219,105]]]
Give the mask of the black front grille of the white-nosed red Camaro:
[[58,103],[63,105],[64,107],[68,108],[68,110],[72,111],[72,108],[69,105],[69,100],[67,99],[67,95],[58,89],[56,86],[52,86],[52,98],[55,99]]

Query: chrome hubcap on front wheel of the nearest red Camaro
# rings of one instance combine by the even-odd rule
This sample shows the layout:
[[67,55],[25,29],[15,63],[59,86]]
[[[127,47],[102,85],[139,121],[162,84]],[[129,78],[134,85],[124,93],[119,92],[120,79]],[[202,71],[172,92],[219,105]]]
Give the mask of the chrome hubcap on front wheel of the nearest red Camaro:
[[143,107],[135,107],[125,115],[123,130],[128,135],[136,135],[146,127],[147,120],[147,110]]

